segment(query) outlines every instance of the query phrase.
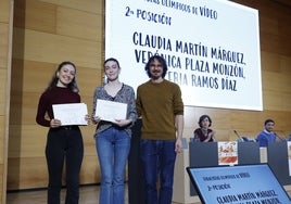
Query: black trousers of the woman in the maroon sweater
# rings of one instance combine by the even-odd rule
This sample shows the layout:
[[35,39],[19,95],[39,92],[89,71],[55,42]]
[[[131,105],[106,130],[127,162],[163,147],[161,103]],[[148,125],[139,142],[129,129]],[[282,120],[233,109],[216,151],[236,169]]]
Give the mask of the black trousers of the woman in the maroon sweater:
[[46,148],[49,170],[48,204],[60,204],[62,173],[65,162],[66,204],[79,200],[79,173],[84,156],[84,143],[77,126],[51,128]]

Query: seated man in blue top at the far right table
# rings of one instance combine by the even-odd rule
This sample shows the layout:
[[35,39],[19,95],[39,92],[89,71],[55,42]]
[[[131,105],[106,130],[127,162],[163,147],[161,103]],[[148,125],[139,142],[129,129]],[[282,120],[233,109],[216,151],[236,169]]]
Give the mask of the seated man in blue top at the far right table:
[[260,146],[265,148],[268,146],[269,142],[282,140],[274,132],[275,122],[273,119],[266,119],[264,125],[264,129],[256,137],[256,141],[260,143]]

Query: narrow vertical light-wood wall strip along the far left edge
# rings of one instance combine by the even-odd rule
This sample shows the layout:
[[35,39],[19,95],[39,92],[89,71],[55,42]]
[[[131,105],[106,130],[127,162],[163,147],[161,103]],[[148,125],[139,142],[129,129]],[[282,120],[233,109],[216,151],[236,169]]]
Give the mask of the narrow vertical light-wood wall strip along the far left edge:
[[0,1],[0,203],[7,199],[13,1]]

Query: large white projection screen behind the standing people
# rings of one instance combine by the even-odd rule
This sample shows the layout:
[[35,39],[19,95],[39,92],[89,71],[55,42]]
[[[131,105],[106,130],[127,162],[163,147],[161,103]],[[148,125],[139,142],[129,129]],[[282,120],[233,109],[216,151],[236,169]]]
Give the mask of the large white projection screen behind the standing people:
[[225,0],[106,0],[105,58],[137,89],[162,55],[185,105],[262,111],[258,11]]

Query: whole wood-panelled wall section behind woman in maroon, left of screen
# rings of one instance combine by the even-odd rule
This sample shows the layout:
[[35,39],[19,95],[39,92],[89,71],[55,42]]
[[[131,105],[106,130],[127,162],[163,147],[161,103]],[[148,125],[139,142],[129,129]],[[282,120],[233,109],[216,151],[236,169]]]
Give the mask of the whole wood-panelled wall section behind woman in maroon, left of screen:
[[[47,187],[48,128],[37,125],[35,117],[38,99],[62,61],[69,60],[77,65],[81,100],[91,113],[93,90],[102,81],[102,3],[91,0],[15,2],[8,190]],[[100,171],[94,126],[81,127],[81,131],[85,157],[80,180],[97,183]]]

